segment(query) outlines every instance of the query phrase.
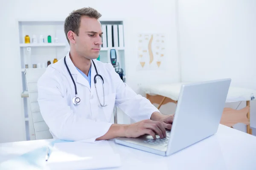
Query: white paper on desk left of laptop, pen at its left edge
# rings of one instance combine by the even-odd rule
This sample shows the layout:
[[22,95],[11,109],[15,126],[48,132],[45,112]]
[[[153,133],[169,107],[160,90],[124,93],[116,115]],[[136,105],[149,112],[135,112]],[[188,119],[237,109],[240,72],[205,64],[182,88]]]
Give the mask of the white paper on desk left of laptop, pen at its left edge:
[[50,169],[98,169],[121,166],[108,141],[56,143],[47,161]]

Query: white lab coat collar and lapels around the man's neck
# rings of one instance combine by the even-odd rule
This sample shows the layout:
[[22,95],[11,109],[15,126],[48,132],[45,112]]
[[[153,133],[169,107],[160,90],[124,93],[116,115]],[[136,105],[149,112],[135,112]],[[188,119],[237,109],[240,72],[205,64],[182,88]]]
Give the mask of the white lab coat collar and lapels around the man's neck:
[[[70,59],[69,54],[70,52],[68,52],[68,54],[66,55],[66,62],[67,62],[68,68],[70,69],[70,73],[73,76],[74,81],[76,81],[77,83],[80,83],[81,85],[86,86],[89,90],[91,90],[89,82],[76,69],[76,66]],[[93,66],[93,63],[91,63],[91,86],[94,85],[93,77],[95,76],[95,74],[96,74],[95,68]]]

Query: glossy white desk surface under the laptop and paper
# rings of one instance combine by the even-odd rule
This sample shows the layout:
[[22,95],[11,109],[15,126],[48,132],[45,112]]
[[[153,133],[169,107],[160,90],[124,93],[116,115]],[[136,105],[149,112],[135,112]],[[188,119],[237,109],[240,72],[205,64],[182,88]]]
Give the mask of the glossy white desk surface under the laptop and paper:
[[[0,144],[0,163],[43,147],[51,141],[52,139]],[[219,126],[214,136],[169,157],[109,142],[115,152],[120,154],[122,161],[122,166],[114,169],[256,170],[256,136],[224,125]]]

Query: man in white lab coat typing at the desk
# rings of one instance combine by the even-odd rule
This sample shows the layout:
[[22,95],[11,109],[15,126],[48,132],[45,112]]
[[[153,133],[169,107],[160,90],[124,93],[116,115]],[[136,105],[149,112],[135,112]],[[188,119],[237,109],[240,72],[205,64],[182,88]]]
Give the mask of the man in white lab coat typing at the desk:
[[[64,23],[70,51],[49,65],[38,80],[38,104],[52,136],[71,141],[135,138],[144,134],[154,139],[156,134],[166,137],[165,129],[171,129],[173,115],[161,114],[148,99],[122,82],[111,64],[96,60],[102,34],[106,34],[102,33],[99,17],[101,14],[93,8],[70,13]],[[104,91],[96,72],[104,80]],[[114,105],[136,123],[111,123]]]

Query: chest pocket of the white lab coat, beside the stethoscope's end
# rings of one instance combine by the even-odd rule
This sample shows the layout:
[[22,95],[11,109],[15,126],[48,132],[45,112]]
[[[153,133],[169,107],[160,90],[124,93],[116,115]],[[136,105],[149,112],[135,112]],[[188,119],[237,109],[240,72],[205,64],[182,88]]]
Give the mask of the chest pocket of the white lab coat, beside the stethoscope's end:
[[105,96],[105,103],[107,106],[102,107],[102,110],[105,114],[107,122],[111,122],[111,117],[113,116],[113,110],[116,100],[116,93],[111,93]]

